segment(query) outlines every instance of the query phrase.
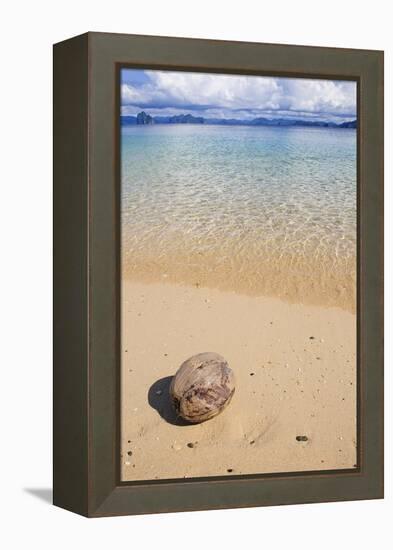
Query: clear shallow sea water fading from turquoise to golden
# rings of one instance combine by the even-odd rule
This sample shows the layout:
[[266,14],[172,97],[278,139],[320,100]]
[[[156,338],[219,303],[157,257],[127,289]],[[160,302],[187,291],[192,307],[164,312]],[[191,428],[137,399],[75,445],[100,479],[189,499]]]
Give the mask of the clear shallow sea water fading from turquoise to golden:
[[126,277],[353,310],[356,130],[122,128]]

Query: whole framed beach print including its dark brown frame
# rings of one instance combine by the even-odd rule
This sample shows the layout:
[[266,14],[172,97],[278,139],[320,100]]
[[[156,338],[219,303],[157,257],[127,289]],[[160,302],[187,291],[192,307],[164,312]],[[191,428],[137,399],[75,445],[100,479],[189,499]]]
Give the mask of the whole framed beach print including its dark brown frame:
[[383,495],[383,54],[54,47],[54,503]]

